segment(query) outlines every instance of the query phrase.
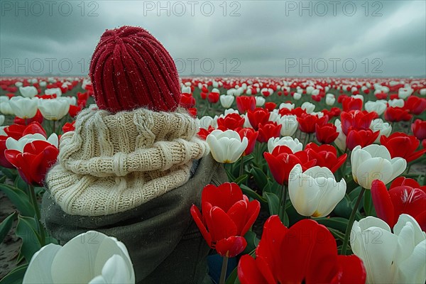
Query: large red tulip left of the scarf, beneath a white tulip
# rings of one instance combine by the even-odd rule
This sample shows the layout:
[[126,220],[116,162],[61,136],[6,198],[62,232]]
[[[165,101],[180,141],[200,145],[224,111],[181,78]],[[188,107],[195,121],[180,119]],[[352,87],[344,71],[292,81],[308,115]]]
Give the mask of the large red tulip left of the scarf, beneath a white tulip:
[[23,153],[6,150],[4,155],[16,167],[21,178],[29,185],[43,186],[45,174],[56,163],[58,148],[47,141],[36,140],[23,147]]

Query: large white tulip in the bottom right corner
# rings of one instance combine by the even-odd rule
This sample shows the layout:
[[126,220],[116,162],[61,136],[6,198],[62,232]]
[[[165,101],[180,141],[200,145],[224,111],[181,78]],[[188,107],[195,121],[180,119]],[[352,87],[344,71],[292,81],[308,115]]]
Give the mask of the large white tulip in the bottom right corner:
[[417,221],[401,214],[391,228],[381,219],[355,221],[351,249],[366,268],[366,283],[425,283],[426,234]]

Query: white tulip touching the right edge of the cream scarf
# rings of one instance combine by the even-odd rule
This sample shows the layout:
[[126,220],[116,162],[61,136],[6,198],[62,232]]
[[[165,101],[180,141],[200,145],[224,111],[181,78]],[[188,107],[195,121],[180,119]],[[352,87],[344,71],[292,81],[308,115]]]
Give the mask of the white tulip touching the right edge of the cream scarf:
[[239,133],[232,130],[214,130],[206,141],[214,160],[219,163],[235,163],[249,145],[247,137],[241,140]]

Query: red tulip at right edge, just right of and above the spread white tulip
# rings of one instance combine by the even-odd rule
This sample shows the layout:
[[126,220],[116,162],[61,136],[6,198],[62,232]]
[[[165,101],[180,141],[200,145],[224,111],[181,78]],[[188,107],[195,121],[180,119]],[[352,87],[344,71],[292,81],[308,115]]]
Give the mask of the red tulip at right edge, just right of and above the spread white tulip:
[[407,160],[407,163],[426,153],[426,149],[415,152],[420,145],[419,139],[402,132],[395,132],[389,137],[383,135],[380,143],[388,148],[391,158],[401,157]]

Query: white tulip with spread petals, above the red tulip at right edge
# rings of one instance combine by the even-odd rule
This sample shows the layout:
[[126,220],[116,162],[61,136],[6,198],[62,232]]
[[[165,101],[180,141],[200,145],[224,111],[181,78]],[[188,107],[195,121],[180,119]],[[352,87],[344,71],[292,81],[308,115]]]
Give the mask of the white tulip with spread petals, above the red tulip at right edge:
[[371,144],[364,148],[356,146],[351,153],[352,176],[354,181],[371,190],[373,180],[385,184],[398,177],[407,167],[405,159],[391,158],[385,146]]

